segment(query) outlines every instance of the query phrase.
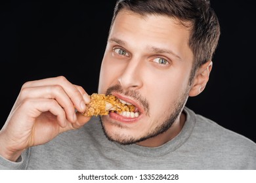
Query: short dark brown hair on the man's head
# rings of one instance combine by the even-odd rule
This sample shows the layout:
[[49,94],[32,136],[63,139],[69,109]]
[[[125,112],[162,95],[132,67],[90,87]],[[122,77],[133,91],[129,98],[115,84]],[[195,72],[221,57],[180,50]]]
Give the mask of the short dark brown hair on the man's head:
[[169,16],[180,20],[183,25],[189,25],[191,33],[188,46],[194,54],[190,82],[194,78],[196,69],[206,61],[212,60],[221,32],[218,18],[209,0],[117,0],[112,24],[118,12],[123,9],[142,16],[148,14]]

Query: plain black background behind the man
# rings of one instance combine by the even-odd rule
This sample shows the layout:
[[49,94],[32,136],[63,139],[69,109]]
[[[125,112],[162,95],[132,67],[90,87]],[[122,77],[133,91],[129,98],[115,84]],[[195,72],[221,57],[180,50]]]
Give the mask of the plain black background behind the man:
[[[115,3],[1,1],[1,126],[28,80],[64,75],[89,94],[97,91]],[[256,10],[253,1],[212,0],[211,5],[221,39],[207,87],[187,106],[256,142]]]

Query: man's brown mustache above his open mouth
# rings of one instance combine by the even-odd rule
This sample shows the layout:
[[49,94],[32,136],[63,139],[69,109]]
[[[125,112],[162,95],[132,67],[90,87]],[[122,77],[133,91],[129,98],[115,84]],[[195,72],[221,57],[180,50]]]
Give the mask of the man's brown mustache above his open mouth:
[[110,88],[108,88],[106,90],[106,95],[111,95],[111,93],[113,93],[113,92],[121,93],[125,96],[135,99],[135,101],[138,101],[140,103],[140,105],[142,105],[146,114],[148,114],[148,112],[149,112],[148,101],[144,97],[142,97],[139,92],[137,92],[135,90],[126,90],[125,91],[125,90],[123,90],[123,88],[121,88],[121,86],[119,84],[110,86]]

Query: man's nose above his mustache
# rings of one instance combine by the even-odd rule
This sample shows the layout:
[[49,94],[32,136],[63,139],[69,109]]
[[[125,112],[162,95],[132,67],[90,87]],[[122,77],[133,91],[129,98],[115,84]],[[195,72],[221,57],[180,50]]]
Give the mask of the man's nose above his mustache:
[[142,64],[139,61],[130,60],[123,73],[117,79],[125,90],[137,90],[142,87]]

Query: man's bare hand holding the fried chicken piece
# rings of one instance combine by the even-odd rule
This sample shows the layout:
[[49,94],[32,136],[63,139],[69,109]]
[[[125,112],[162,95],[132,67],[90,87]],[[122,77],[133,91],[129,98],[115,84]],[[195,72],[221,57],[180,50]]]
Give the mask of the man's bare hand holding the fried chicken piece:
[[0,155],[16,161],[26,148],[78,129],[90,119],[80,113],[89,102],[85,90],[64,76],[26,82],[0,131]]

